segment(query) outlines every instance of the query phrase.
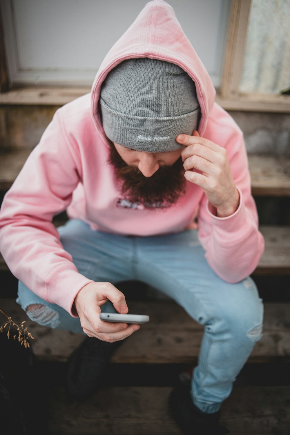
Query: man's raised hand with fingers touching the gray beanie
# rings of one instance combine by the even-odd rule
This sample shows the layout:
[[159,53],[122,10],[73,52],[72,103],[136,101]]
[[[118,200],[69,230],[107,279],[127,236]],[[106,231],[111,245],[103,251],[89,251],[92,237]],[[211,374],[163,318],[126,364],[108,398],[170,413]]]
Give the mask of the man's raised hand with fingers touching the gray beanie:
[[[191,183],[202,187],[208,201],[217,208],[217,216],[224,218],[233,214],[239,207],[240,195],[233,180],[227,151],[219,145],[200,137],[196,130],[193,136],[183,134],[183,140],[176,141],[185,145],[181,153],[184,177]],[[201,171],[193,172],[193,169]]]

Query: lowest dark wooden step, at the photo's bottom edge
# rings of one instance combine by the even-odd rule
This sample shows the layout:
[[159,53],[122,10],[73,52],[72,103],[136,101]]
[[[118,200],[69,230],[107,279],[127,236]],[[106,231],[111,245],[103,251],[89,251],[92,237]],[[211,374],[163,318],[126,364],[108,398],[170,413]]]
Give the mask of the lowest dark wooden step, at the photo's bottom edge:
[[[90,400],[71,402],[64,388],[49,397],[48,435],[180,435],[168,411],[171,387],[103,387]],[[289,434],[290,388],[234,386],[220,424],[231,435]]]

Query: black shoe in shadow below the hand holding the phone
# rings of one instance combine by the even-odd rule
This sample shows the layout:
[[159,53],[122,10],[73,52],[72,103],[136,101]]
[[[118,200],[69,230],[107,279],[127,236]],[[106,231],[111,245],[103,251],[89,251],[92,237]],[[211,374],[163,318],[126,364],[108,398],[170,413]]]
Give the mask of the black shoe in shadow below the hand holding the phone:
[[70,398],[84,400],[98,390],[107,363],[122,342],[109,343],[93,337],[84,339],[68,361],[66,391]]

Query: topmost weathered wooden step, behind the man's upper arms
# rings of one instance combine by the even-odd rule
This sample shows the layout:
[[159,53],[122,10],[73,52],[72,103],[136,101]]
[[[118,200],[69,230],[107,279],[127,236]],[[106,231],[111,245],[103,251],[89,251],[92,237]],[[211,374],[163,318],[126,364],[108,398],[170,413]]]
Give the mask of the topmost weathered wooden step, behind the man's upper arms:
[[[22,168],[30,149],[0,152],[0,190],[7,191]],[[249,154],[252,193],[256,196],[290,196],[290,159]]]

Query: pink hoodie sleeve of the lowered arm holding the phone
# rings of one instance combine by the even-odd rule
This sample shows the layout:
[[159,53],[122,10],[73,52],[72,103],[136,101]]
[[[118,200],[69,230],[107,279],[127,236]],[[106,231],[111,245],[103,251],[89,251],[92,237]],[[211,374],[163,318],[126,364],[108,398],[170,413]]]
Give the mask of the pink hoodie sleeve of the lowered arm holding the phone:
[[57,110],[0,212],[0,251],[11,272],[33,293],[73,317],[76,294],[92,281],[77,271],[63,249],[52,218],[67,208],[80,181],[77,153]]

